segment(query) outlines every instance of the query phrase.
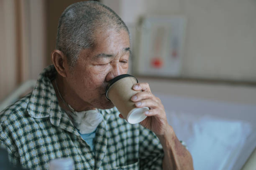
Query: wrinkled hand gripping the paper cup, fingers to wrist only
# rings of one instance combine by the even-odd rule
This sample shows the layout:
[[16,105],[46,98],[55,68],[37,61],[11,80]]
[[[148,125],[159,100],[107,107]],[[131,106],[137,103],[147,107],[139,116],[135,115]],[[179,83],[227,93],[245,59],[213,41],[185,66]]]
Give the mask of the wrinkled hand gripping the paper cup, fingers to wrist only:
[[[156,135],[164,135],[168,128],[168,123],[161,100],[151,93],[148,83],[137,83],[133,85],[133,90],[138,91],[136,95],[131,97],[131,101],[135,102],[136,107],[149,107],[149,110],[144,112],[148,117],[140,124],[153,131]],[[123,118],[121,114],[119,116]]]

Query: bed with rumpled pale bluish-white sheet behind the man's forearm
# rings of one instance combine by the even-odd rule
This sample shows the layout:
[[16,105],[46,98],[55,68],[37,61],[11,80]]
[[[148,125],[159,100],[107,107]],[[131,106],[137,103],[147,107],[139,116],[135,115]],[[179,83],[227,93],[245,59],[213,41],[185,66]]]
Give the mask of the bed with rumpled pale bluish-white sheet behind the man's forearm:
[[240,170],[256,147],[256,105],[156,94],[195,170]]

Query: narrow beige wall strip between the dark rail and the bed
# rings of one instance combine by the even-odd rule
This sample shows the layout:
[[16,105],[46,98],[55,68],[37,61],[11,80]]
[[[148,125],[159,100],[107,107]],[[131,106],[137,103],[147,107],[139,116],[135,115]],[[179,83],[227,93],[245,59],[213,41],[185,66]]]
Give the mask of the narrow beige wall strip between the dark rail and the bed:
[[256,105],[256,87],[167,79],[155,80],[143,77],[138,77],[138,80],[140,82],[148,82],[153,94]]

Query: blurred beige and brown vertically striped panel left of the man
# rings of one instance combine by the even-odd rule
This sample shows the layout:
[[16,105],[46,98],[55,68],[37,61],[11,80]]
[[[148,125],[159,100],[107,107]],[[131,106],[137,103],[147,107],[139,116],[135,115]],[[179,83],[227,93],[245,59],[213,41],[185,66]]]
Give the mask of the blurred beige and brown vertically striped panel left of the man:
[[0,0],[0,100],[45,67],[44,0]]

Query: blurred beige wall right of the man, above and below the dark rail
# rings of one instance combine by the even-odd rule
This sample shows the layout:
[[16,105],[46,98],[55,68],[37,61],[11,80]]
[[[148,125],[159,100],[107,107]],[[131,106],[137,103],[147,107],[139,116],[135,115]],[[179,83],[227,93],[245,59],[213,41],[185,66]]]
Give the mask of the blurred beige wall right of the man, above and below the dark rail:
[[[255,0],[102,0],[131,31],[132,50],[143,15],[182,15],[188,20],[182,75],[256,81]],[[136,55],[133,57],[139,57]],[[138,77],[153,93],[256,104],[256,87]]]

